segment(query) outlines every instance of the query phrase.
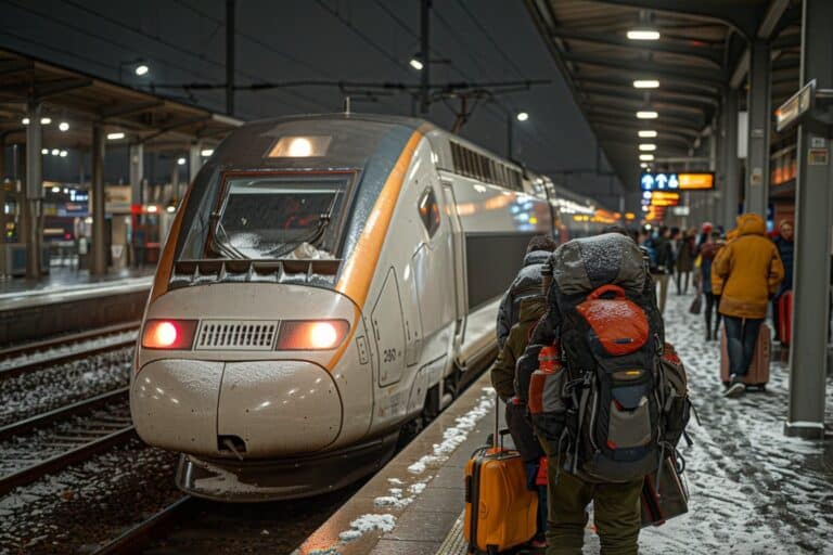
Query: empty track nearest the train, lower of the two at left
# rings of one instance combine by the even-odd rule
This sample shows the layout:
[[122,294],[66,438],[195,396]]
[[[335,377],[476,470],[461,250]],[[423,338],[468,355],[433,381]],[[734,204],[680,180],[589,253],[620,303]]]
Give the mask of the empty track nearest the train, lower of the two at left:
[[0,495],[136,437],[128,388],[102,393],[0,428],[5,464]]

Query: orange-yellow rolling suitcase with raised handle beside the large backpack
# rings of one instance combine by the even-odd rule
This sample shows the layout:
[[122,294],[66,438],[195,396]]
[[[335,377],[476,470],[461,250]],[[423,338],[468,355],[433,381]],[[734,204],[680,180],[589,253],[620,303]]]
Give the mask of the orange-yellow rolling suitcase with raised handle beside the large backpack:
[[[500,400],[497,400],[500,410]],[[503,448],[495,414],[492,446],[478,449],[465,464],[465,521],[469,553],[495,554],[522,545],[536,532],[538,496],[526,487],[526,468],[517,451]],[[500,444],[498,444],[500,438]]]

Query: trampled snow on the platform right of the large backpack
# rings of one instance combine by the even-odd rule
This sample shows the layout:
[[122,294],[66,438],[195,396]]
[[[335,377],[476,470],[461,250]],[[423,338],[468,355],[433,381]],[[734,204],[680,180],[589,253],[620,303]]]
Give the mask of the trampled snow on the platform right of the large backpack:
[[[704,341],[704,317],[688,313],[691,299],[669,293],[665,314],[703,423],[692,417],[694,446],[680,443],[689,513],[644,530],[641,553],[833,554],[833,467],[824,464],[825,455],[833,462],[833,442],[783,435],[789,369],[778,348],[766,392],[721,396],[719,343]],[[833,378],[826,399],[833,422]]]

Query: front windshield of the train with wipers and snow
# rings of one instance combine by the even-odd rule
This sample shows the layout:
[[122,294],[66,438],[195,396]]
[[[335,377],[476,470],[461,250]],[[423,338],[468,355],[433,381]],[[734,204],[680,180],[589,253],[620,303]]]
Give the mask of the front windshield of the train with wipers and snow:
[[191,230],[207,233],[200,258],[332,258],[345,189],[344,177],[229,175],[208,224]]

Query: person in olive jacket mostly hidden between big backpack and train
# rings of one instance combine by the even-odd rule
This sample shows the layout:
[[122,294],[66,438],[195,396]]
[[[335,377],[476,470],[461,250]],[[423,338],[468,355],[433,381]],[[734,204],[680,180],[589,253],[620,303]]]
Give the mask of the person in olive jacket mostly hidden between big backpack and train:
[[526,350],[530,327],[540,320],[547,308],[540,284],[537,293],[537,296],[521,299],[518,321],[510,330],[489,373],[498,397],[507,403],[507,426],[526,466],[527,488],[538,493],[538,529],[530,546],[540,548],[547,545],[547,487],[538,486],[536,479],[544,453],[527,420],[526,405],[518,399],[514,386],[515,363]]

